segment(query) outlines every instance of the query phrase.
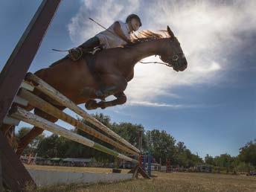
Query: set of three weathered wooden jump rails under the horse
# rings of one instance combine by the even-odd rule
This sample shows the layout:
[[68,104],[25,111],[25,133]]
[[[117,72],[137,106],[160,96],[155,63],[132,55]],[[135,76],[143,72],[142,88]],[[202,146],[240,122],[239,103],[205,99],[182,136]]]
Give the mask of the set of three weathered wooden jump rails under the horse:
[[[98,129],[106,133],[106,135],[98,132],[96,129],[89,127],[89,125],[86,125],[82,121],[71,117],[71,115],[66,114],[65,112],[57,109],[55,106],[51,105],[45,100],[42,100],[42,98],[34,95],[34,89],[39,90],[40,92],[48,95],[61,105],[67,107],[68,109],[71,109],[77,115],[80,115],[82,118],[84,118],[87,122],[95,125]],[[38,115],[34,115],[33,113],[28,112],[19,106],[15,106],[10,109],[9,115],[7,116],[8,119],[14,118],[14,121],[24,121],[28,124],[48,130],[57,135],[62,135],[65,138],[77,141],[80,144],[84,144],[87,147],[92,147],[95,150],[100,150],[103,153],[107,153],[119,159],[138,163],[136,159],[132,159],[131,157],[129,157],[129,155],[138,156],[139,153],[141,153],[140,150],[138,150],[124,138],[121,138],[120,135],[116,134],[105,125],[101,124],[100,121],[97,121],[97,119],[93,118],[86,111],[84,111],[71,100],[69,100],[68,97],[65,97],[65,95],[58,92],[56,89],[48,85],[48,83],[45,83],[34,74],[28,73],[26,75],[25,81],[23,81],[16,96],[16,99],[14,100],[14,103],[19,103],[19,105],[22,106],[27,106],[29,104],[33,107],[36,107],[37,109],[40,109],[43,112],[54,116],[55,118],[65,121],[66,123],[71,124],[72,126],[77,127],[78,129],[81,129],[90,135],[93,135],[95,138],[99,138],[100,140],[108,144],[112,144],[112,146],[117,147],[119,150],[122,150],[127,154],[124,155],[118,153],[117,151],[104,147],[102,144],[98,144],[95,141],[90,140],[89,138],[77,135],[77,133],[71,132],[71,130],[65,129],[64,127],[60,127],[59,125],[54,124],[44,118],[41,118]],[[114,139],[116,141],[114,141]]]

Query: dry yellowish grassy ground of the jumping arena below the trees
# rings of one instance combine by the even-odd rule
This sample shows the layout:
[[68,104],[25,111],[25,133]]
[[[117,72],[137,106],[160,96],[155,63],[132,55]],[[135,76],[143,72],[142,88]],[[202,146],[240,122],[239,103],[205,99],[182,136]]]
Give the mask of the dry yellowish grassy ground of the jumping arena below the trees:
[[[109,173],[110,169],[92,167],[45,167],[37,169],[96,171]],[[128,170],[124,170],[123,173]],[[48,188],[38,188],[36,191],[256,191],[255,176],[233,176],[217,173],[160,173],[153,172],[153,179],[135,179],[125,182],[98,184],[56,185]],[[29,188],[28,188],[29,191]],[[31,190],[34,191],[34,190]]]

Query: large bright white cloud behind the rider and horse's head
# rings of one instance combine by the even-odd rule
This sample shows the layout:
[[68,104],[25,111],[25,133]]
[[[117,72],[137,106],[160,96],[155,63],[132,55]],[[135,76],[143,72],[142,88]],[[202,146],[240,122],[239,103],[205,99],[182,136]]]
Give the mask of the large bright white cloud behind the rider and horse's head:
[[[89,21],[89,16],[108,27],[116,19],[124,20],[129,13],[139,13],[144,29],[165,29],[170,25],[181,42],[188,68],[176,73],[163,65],[135,65],[135,77],[126,90],[129,104],[161,106],[156,97],[179,97],[173,92],[176,86],[221,80],[224,71],[231,67],[228,55],[243,48],[249,40],[242,39],[240,34],[256,31],[255,10],[253,0],[83,1],[68,31],[74,44],[79,44],[102,30]],[[145,59],[149,60],[159,59]]]

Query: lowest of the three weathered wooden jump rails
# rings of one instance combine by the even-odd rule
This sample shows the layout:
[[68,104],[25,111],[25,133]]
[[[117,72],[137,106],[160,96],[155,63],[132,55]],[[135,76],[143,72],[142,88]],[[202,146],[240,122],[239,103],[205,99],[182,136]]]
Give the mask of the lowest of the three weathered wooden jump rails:
[[138,162],[135,159],[132,159],[128,156],[124,156],[123,154],[111,150],[107,147],[104,147],[101,144],[97,144],[95,141],[92,141],[89,138],[77,135],[76,133],[71,132],[70,130],[65,129],[63,127],[60,127],[57,124],[54,124],[50,121],[47,121],[44,118],[39,117],[38,115],[34,115],[33,113],[28,112],[25,109],[20,108],[19,106],[13,107],[13,109],[11,109],[10,111],[10,115],[13,118],[19,119],[20,121],[25,121],[26,123],[32,124],[33,126],[40,127],[50,132],[54,132],[57,135],[62,135],[65,138],[71,139],[72,141],[77,141],[80,144],[92,147],[95,150],[100,150],[103,153],[107,153],[119,159],[124,159],[125,161],[132,161],[136,163]]

